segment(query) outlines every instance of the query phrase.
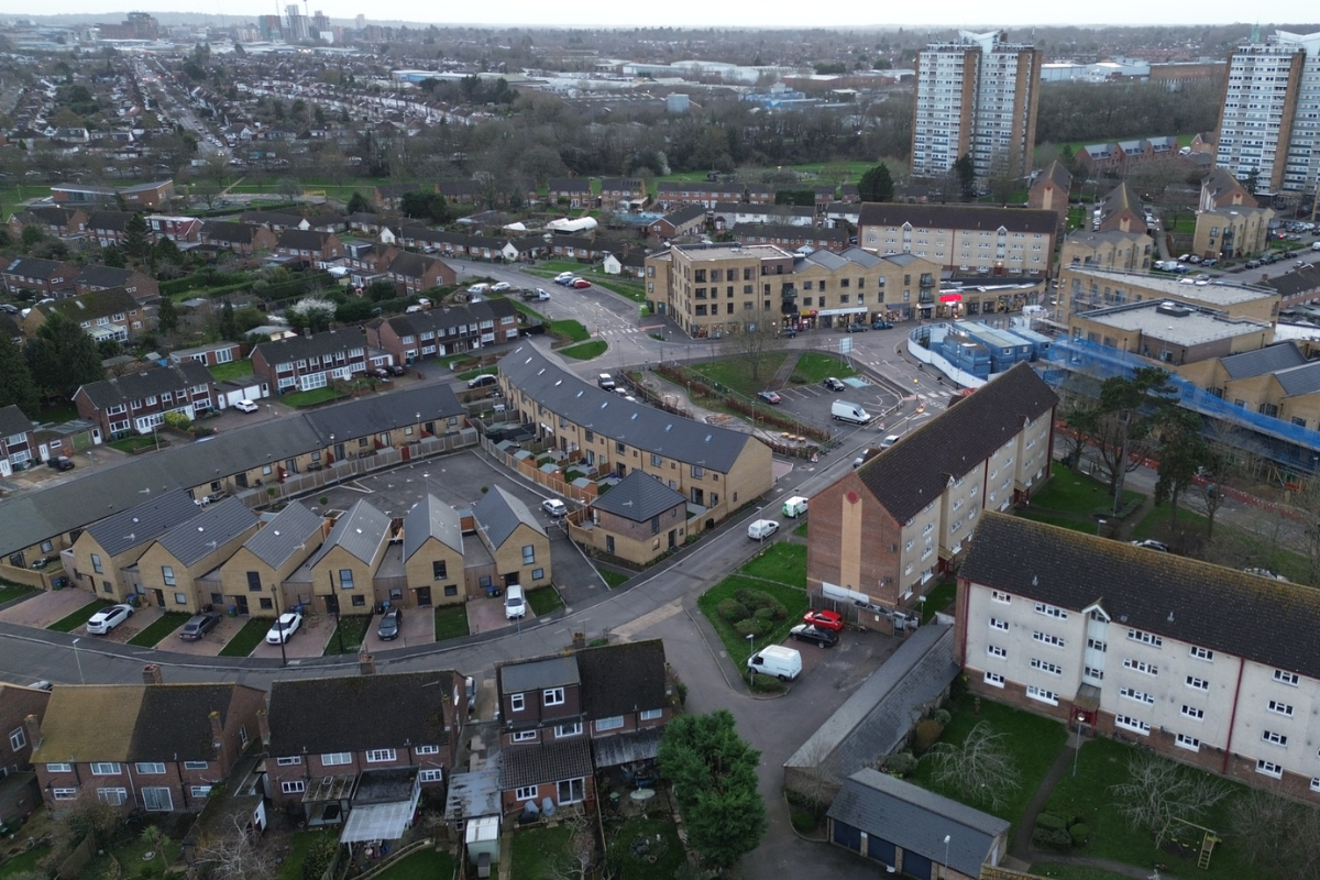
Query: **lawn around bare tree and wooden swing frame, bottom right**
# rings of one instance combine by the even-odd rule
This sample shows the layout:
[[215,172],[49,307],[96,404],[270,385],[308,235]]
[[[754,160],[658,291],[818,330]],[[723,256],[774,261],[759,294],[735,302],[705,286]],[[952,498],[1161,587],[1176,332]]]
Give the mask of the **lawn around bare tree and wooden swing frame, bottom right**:
[[[1233,851],[1233,839],[1229,831],[1229,815],[1233,802],[1247,793],[1247,788],[1241,784],[1225,784],[1233,790],[1229,797],[1220,801],[1200,825],[1213,829],[1225,838],[1225,842],[1214,848],[1210,867],[1205,871],[1196,869],[1195,859],[1183,859],[1167,851],[1155,850],[1154,839],[1144,831],[1134,831],[1127,819],[1118,811],[1111,788],[1129,780],[1129,761],[1142,757],[1135,747],[1107,739],[1097,739],[1085,743],[1081,755],[1077,757],[1077,776],[1065,774],[1060,780],[1055,793],[1051,796],[1045,809],[1069,817],[1084,817],[1090,829],[1090,843],[1086,844],[1085,854],[1101,859],[1113,859],[1138,867],[1148,867],[1156,858],[1168,863],[1179,875],[1192,875],[1206,877],[1208,880],[1229,880],[1232,877],[1265,877],[1265,872],[1238,863]],[[1200,774],[1188,767],[1184,773]],[[1200,843],[1200,833],[1188,829],[1187,836],[1195,838]]]

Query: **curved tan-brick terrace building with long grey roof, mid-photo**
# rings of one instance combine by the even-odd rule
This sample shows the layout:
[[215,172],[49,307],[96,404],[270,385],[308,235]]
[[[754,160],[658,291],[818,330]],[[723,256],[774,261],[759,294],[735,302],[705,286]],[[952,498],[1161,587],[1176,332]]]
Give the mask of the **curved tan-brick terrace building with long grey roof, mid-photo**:
[[529,344],[500,361],[506,405],[537,437],[591,474],[645,471],[688,499],[688,534],[770,491],[771,450],[742,431],[704,425],[589,385]]

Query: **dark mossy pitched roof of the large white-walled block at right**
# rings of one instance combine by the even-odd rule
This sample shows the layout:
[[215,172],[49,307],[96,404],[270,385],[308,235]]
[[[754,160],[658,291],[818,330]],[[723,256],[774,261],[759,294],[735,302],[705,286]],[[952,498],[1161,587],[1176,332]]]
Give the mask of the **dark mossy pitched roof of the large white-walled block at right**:
[[1320,678],[1313,587],[990,511],[958,575],[1078,613],[1098,603],[1115,623]]

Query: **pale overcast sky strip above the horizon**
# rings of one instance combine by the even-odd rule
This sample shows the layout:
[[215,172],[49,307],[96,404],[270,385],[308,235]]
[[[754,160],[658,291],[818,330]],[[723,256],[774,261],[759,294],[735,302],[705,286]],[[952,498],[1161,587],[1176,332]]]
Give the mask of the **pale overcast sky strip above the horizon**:
[[[0,16],[33,13],[74,13],[108,16],[127,9],[143,12],[193,12],[201,15],[252,16],[282,15],[289,0],[139,0],[125,5],[124,0],[58,0],[51,4],[32,4],[30,0],[0,0]],[[436,24],[495,24],[500,26],[533,25],[609,25],[609,26],[743,26],[743,28],[799,28],[817,26],[927,26],[932,20],[932,5],[925,3],[832,4],[829,8],[812,4],[774,0],[772,3],[718,3],[706,0],[671,0],[668,3],[619,3],[618,0],[576,0],[574,3],[546,3],[545,0],[503,0],[502,3],[436,3],[428,0],[401,0],[374,4],[366,0],[308,0],[310,11],[323,11],[331,18],[354,18],[358,13],[367,20],[418,21]],[[302,3],[298,3],[302,5]],[[1195,4],[1154,5],[1150,0],[1111,0],[1096,5],[1051,0],[1019,0],[1018,3],[986,4],[983,0],[942,0],[939,21],[933,25],[1022,28],[1032,24],[1122,25],[1122,24],[1232,24],[1249,21],[1254,7],[1238,0],[1199,0]],[[385,12],[388,9],[388,13]],[[990,17],[987,17],[987,13]],[[869,16],[874,15],[874,18]],[[1302,0],[1282,0],[1269,4],[1270,18],[1275,21],[1307,21],[1316,17],[1311,4]]]

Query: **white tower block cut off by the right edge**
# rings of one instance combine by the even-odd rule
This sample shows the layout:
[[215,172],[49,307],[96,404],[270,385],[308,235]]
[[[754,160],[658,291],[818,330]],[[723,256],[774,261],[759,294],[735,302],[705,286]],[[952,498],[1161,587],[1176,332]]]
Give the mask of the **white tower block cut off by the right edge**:
[[1229,57],[1216,164],[1255,193],[1311,194],[1320,174],[1320,33],[1259,30]]

